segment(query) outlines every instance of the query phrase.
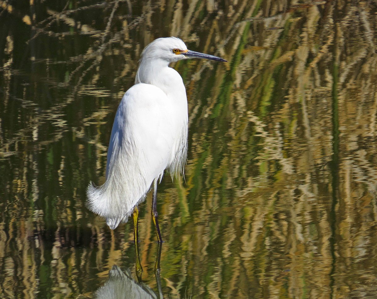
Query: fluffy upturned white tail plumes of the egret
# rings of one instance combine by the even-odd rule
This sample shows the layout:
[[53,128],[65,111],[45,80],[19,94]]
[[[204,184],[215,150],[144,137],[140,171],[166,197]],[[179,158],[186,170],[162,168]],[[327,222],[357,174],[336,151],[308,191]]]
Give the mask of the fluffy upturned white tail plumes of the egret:
[[109,193],[108,180],[102,186],[95,186],[90,182],[87,190],[86,207],[95,214],[105,217],[106,224],[114,230],[120,222],[127,222],[132,214],[132,209],[124,211],[119,200],[114,200],[113,194]]

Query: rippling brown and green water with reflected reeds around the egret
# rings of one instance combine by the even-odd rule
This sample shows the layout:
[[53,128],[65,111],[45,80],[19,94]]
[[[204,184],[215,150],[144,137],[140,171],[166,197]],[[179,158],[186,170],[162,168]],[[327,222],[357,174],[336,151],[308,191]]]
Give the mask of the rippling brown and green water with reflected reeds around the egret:
[[228,63],[172,65],[188,160],[159,186],[161,292],[151,194],[140,205],[144,287],[375,298],[376,14],[374,0],[0,1],[0,297],[100,297],[116,271],[140,286],[132,221],[110,230],[85,191],[104,182],[141,51],[177,36]]

